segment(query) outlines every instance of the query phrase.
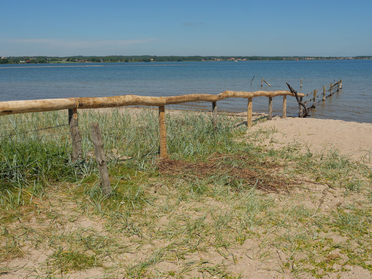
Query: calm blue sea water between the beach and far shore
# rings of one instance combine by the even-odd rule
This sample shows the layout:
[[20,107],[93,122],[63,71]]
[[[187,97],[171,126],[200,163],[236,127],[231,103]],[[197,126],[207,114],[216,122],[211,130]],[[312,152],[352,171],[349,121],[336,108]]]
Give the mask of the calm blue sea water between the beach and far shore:
[[[0,100],[257,91],[261,90],[261,77],[272,85],[264,83],[262,90],[287,90],[288,82],[307,94],[342,78],[340,92],[319,103],[311,117],[372,123],[371,70],[372,60],[12,64],[0,65]],[[189,105],[211,108],[209,103]],[[217,106],[242,112],[247,100],[232,98]],[[281,106],[282,97],[275,97],[273,113],[281,115]],[[266,97],[253,99],[253,112],[267,112],[267,108]],[[287,115],[298,115],[294,97],[287,99]]]

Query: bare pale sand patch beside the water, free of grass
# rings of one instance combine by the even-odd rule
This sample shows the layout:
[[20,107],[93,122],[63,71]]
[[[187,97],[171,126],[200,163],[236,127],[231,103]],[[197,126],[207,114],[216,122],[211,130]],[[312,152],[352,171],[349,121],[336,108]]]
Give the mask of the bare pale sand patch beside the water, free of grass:
[[285,145],[299,143],[303,151],[304,145],[311,152],[322,152],[324,149],[338,150],[354,160],[371,163],[372,159],[372,124],[333,119],[314,118],[280,118],[259,122],[247,133],[258,129],[269,128],[277,131],[267,135],[261,145],[278,149]]

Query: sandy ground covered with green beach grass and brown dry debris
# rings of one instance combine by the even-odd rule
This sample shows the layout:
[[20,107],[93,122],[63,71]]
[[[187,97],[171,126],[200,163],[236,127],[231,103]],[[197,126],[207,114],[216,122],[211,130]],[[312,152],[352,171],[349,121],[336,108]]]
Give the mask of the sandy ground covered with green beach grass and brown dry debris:
[[[1,117],[0,273],[35,278],[326,278],[372,270],[371,169],[340,154],[274,150],[240,117],[153,108]],[[264,119],[261,119],[264,121]],[[113,193],[102,195],[98,122]],[[257,122],[254,122],[255,124]]]

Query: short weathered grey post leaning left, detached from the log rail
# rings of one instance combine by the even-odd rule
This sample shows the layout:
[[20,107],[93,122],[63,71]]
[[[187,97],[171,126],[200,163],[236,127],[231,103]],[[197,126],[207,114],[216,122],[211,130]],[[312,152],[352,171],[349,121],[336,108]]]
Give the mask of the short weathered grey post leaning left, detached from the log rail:
[[98,123],[90,124],[90,132],[92,134],[94,154],[96,155],[99,180],[100,180],[100,184],[102,187],[102,192],[103,192],[103,195],[110,195],[111,184],[110,184],[109,172],[107,170],[105,152],[103,150],[101,129],[99,128]]

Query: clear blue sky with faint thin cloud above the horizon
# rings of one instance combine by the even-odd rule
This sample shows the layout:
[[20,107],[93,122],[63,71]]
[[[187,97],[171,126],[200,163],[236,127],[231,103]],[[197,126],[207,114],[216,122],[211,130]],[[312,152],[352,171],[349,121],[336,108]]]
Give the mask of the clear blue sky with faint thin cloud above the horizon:
[[25,1],[0,6],[0,56],[372,55],[372,1]]

